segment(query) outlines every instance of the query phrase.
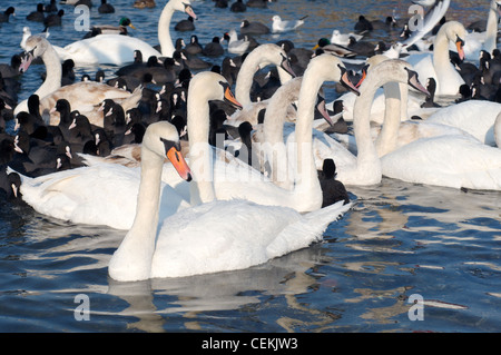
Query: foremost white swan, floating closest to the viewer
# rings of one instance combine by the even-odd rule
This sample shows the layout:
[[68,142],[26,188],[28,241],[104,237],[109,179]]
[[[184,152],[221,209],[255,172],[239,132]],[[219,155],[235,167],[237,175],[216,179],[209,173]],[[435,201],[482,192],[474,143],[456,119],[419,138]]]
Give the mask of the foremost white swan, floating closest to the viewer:
[[[222,99],[223,90],[213,91],[212,97]],[[176,145],[176,136],[168,122],[147,129],[136,217],[109,262],[109,276],[116,280],[183,277],[263,264],[320,240],[327,225],[350,208],[340,201],[302,216],[291,208],[243,200],[210,201],[173,215],[158,230],[166,157],[163,139]]]

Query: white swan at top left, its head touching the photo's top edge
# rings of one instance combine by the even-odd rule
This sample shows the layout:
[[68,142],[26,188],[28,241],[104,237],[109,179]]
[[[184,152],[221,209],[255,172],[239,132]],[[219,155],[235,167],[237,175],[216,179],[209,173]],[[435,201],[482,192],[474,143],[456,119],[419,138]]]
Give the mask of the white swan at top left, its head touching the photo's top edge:
[[194,19],[190,0],[170,0],[164,7],[158,20],[159,52],[149,43],[130,36],[100,34],[72,42],[63,48],[56,47],[62,60],[72,59],[76,66],[115,65],[120,66],[134,59],[134,51],[140,50],[144,58],[173,57],[175,51],[170,38],[170,19],[175,11],[186,12]]

